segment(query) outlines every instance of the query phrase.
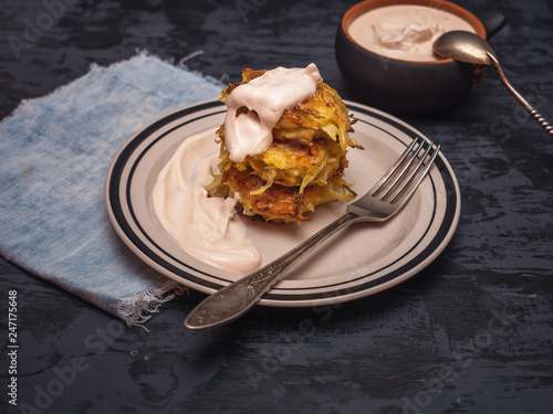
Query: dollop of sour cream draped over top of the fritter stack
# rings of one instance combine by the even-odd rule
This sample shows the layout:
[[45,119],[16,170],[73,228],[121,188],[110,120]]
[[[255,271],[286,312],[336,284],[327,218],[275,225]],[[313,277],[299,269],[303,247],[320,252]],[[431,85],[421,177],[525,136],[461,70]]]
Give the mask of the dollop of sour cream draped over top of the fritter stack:
[[[225,118],[230,159],[241,162],[247,156],[267,150],[284,110],[312,97],[322,82],[316,65],[311,63],[304,68],[276,67],[236,87],[227,100]],[[238,112],[241,107],[248,112]]]

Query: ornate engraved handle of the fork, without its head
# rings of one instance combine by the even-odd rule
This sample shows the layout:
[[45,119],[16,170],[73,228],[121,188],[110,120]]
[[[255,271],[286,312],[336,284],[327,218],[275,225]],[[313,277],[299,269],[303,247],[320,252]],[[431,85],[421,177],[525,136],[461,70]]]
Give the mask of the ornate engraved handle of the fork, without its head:
[[355,212],[346,212],[281,257],[208,296],[188,315],[185,326],[202,329],[234,320],[255,305],[293,265],[304,259],[331,235],[358,220]]

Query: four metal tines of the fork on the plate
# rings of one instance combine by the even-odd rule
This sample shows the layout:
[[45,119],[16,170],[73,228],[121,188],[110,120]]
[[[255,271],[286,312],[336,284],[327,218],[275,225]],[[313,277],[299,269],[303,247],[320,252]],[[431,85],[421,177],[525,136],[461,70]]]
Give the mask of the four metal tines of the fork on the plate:
[[407,202],[428,173],[439,150],[440,145],[435,145],[434,141],[428,144],[425,139],[416,137],[373,187],[372,195],[392,204]]

